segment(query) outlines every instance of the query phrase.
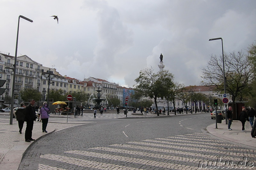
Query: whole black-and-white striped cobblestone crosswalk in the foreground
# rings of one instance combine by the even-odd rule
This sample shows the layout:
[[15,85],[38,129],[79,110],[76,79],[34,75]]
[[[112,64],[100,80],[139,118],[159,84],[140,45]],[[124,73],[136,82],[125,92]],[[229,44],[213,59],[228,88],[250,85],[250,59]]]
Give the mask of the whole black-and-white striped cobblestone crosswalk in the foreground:
[[[256,152],[203,133],[145,139],[40,156],[38,169],[205,169],[236,168],[255,161]],[[47,162],[52,162],[47,164]],[[232,164],[231,164],[232,162]],[[54,165],[54,166],[53,166]],[[253,164],[242,168],[256,169]],[[245,167],[247,166],[247,167]]]

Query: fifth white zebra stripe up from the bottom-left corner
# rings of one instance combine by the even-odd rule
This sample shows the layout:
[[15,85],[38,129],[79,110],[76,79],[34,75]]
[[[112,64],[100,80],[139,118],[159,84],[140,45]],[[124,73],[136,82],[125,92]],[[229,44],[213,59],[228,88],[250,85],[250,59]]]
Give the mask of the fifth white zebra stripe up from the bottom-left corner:
[[[201,153],[175,151],[175,150],[169,150],[169,149],[159,149],[159,148],[135,146],[135,145],[129,145],[129,144],[112,144],[110,146],[125,147],[125,148],[132,148],[132,149],[141,149],[141,150],[156,151],[156,152],[166,152],[166,153],[181,154],[181,155],[186,155],[186,156],[190,155],[190,156],[195,156],[195,157],[216,159],[216,156],[206,155],[206,154],[201,154]],[[228,156],[223,156],[222,158],[226,159],[226,160],[238,160],[238,161],[241,160],[240,158],[233,158],[233,157],[228,157]]]

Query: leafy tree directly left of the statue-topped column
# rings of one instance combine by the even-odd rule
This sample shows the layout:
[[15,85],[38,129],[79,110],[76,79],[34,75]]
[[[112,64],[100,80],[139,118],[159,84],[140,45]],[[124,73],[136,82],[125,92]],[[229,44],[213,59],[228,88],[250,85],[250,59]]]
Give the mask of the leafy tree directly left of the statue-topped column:
[[135,79],[136,85],[135,90],[140,94],[141,97],[153,98],[156,104],[157,116],[157,98],[160,97],[160,93],[165,90],[167,85],[173,84],[173,75],[168,70],[153,72],[153,68],[145,68],[140,71],[140,75]]

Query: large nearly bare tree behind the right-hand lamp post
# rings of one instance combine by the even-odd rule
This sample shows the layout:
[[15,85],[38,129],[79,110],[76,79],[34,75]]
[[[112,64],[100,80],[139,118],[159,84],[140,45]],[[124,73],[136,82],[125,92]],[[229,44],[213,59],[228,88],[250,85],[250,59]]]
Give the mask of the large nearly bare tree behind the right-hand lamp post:
[[[224,56],[226,93],[232,96],[232,106],[235,106],[235,101],[238,100],[239,94],[248,87],[249,82],[255,78],[255,72],[251,67],[248,57],[239,51],[238,53],[232,52]],[[223,92],[223,62],[222,55],[217,57],[211,55],[210,61],[206,67],[201,68],[203,72],[202,78],[205,80],[204,85],[214,85],[215,91]],[[234,107],[235,108],[235,107]]]

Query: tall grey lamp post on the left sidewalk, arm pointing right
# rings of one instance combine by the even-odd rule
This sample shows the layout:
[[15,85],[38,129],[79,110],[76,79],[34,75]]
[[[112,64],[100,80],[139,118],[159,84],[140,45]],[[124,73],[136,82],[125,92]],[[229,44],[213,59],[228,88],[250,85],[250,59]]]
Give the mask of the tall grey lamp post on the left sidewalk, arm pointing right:
[[24,17],[22,15],[19,16],[18,20],[18,31],[17,31],[17,39],[16,39],[16,49],[15,49],[15,59],[14,59],[14,69],[13,69],[13,80],[12,80],[12,100],[11,100],[11,111],[10,111],[10,124],[12,124],[13,118],[13,105],[14,105],[14,89],[15,89],[15,77],[16,77],[16,62],[17,62],[17,50],[18,50],[18,38],[19,38],[19,27],[20,27],[20,18],[23,18],[29,22],[33,22],[33,20]]

